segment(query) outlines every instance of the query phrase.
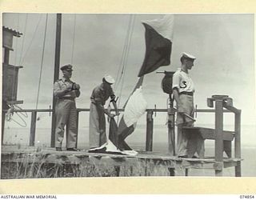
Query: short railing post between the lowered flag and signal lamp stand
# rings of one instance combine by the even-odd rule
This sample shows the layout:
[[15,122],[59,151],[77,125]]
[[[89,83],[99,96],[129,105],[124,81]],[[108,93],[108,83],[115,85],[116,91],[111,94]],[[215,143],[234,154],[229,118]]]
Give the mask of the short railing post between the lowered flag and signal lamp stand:
[[149,110],[146,114],[146,151],[153,150],[153,111]]

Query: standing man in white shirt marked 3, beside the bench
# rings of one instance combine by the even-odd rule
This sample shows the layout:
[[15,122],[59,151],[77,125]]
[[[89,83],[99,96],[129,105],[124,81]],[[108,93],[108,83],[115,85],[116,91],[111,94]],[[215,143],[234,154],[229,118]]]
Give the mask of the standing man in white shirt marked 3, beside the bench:
[[[173,76],[173,94],[178,108],[176,125],[178,126],[178,138],[177,138],[177,153],[180,158],[187,158],[187,143],[188,139],[182,132],[183,126],[193,126],[194,116],[194,82],[190,78],[188,70],[194,66],[194,60],[196,58],[187,53],[182,53],[181,68],[174,73]],[[189,118],[188,116],[192,118]],[[198,148],[199,147],[199,148]],[[200,144],[197,147],[197,153],[201,157],[203,155],[203,145]]]

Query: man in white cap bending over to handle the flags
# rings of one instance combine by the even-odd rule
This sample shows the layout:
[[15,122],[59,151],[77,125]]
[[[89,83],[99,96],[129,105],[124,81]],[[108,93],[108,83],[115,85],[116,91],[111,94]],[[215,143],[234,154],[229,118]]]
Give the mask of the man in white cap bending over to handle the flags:
[[96,86],[90,96],[90,148],[97,148],[106,143],[106,118],[104,114],[110,118],[114,117],[114,114],[104,108],[108,98],[110,98],[110,102],[113,103],[116,114],[118,114],[118,108],[114,100],[115,95],[111,87],[113,83],[114,78],[110,75],[105,75],[102,78],[102,84]]

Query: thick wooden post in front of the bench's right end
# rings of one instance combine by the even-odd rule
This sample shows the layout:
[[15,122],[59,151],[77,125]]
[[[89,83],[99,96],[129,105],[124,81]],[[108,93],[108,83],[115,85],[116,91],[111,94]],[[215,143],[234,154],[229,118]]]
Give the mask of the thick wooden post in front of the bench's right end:
[[[223,162],[223,101],[215,101],[215,161]],[[216,176],[222,176],[222,167],[215,169]]]

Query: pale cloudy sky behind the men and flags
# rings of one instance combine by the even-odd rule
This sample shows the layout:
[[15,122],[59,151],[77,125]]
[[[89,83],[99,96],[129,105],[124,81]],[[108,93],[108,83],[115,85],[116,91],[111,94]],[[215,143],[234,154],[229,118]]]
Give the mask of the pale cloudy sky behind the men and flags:
[[[47,25],[46,25],[47,16]],[[122,107],[138,79],[138,71],[145,55],[143,20],[162,18],[161,14],[62,14],[61,66],[74,66],[72,80],[81,86],[78,108],[90,107],[90,94],[102,82],[105,74],[117,78],[122,66],[122,53],[132,26],[126,58],[125,77],[115,90]],[[56,14],[3,14],[2,24],[22,32],[14,38],[14,52],[10,64],[22,65],[18,74],[18,100],[23,109],[47,109],[52,104],[54,82],[54,50]],[[44,34],[45,50],[42,56]],[[254,14],[175,14],[174,38],[170,66],[157,71],[174,71],[181,65],[182,52],[197,59],[190,70],[196,92],[194,103],[207,109],[206,99],[214,94],[233,98],[234,106],[242,110],[242,124],[255,125],[254,71]],[[73,55],[73,56],[72,56]],[[42,60],[43,57],[43,60]],[[42,81],[38,90],[42,63]],[[60,71],[60,77],[62,72]],[[152,72],[145,76],[143,95],[148,108],[166,108],[167,94],[161,89],[163,74]],[[38,98],[38,105],[36,105]],[[49,114],[40,115],[49,116]],[[86,118],[82,115],[82,118]],[[83,120],[83,119],[82,119]],[[212,114],[198,114],[198,124],[213,124]],[[225,114],[227,124],[234,122],[232,114]],[[50,119],[46,119],[50,122]],[[140,120],[146,122],[145,118]],[[164,124],[166,114],[158,114],[155,124]],[[86,123],[84,126],[88,126]]]

